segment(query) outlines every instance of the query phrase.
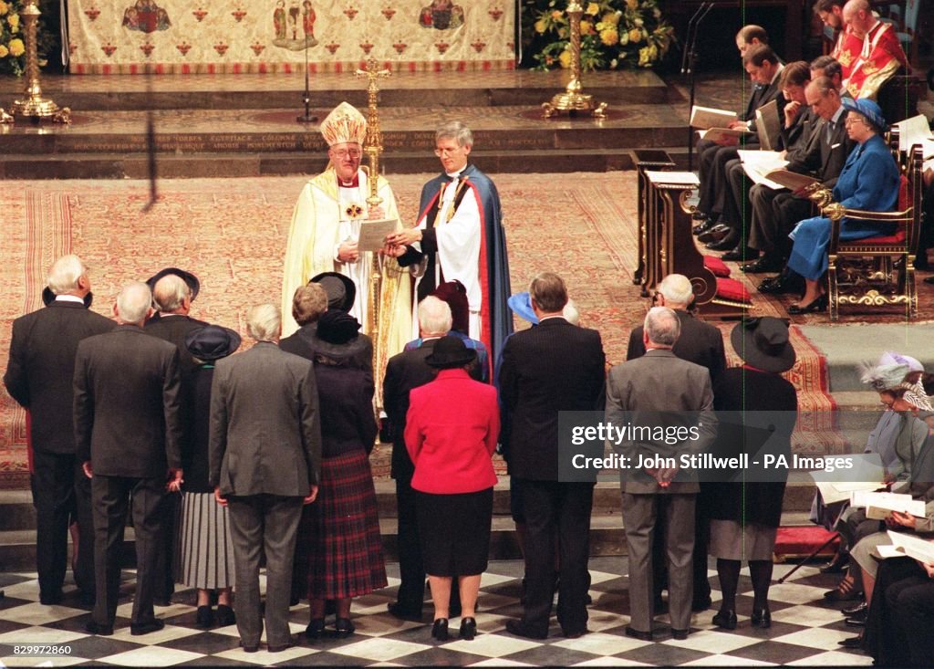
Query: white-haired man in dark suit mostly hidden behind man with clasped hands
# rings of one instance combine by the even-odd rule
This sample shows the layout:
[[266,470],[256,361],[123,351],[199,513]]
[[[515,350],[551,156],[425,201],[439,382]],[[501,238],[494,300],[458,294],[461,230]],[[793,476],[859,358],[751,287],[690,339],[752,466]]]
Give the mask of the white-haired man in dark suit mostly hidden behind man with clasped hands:
[[[727,368],[727,355],[723,349],[723,335],[710,323],[694,318],[688,307],[694,301],[694,289],[688,278],[681,274],[670,274],[661,280],[656,289],[655,306],[667,306],[674,310],[681,325],[681,336],[674,342],[672,352],[688,363],[700,364],[710,373],[711,382]],[[633,328],[626,360],[635,360],[645,355],[644,326]],[[694,596],[691,609],[703,611],[711,604],[710,581],[707,578],[707,539],[710,514],[706,498],[701,494],[695,505],[694,536]],[[661,600],[661,591],[668,585],[668,568],[664,553],[664,519],[656,526],[652,569],[654,572],[655,602]]]

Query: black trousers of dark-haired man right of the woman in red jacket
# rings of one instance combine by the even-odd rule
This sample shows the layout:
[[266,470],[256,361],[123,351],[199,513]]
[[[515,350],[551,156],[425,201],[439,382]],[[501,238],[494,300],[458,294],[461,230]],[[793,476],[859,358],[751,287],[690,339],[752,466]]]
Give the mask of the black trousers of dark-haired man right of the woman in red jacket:
[[532,633],[548,632],[555,584],[555,535],[559,550],[558,622],[564,633],[587,629],[590,582],[592,483],[522,479],[526,517],[526,604],[523,622]]

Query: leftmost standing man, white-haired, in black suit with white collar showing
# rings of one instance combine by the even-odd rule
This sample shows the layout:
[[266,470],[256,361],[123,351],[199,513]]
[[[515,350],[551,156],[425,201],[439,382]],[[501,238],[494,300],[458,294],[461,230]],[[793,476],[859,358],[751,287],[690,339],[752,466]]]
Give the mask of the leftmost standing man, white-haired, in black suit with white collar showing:
[[78,342],[112,330],[117,323],[88,310],[91,294],[88,270],[77,255],[66,255],[52,265],[49,306],[13,321],[9,363],[4,384],[10,396],[30,412],[35,505],[35,570],[39,574],[39,601],[62,601],[62,583],[68,561],[68,525],[78,520],[75,582],[84,604],[94,600],[94,529],[91,517],[91,481],[75,457],[72,417],[75,352]]

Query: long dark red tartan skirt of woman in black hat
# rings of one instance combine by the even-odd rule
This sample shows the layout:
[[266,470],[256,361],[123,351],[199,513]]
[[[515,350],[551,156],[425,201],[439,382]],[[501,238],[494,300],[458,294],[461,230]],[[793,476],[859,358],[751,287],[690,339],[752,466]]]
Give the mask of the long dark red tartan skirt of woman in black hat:
[[308,599],[359,597],[385,588],[370,461],[362,450],[321,460],[318,498],[309,507]]

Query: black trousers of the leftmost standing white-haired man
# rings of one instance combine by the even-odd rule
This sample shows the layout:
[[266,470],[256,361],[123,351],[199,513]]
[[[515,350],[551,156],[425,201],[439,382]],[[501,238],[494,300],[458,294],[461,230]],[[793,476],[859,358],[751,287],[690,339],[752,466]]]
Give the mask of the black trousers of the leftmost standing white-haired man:
[[94,524],[91,513],[91,479],[84,476],[73,454],[34,451],[35,570],[39,592],[53,597],[62,590],[68,564],[68,527],[78,522],[78,561],[75,582],[89,595],[94,592]]

